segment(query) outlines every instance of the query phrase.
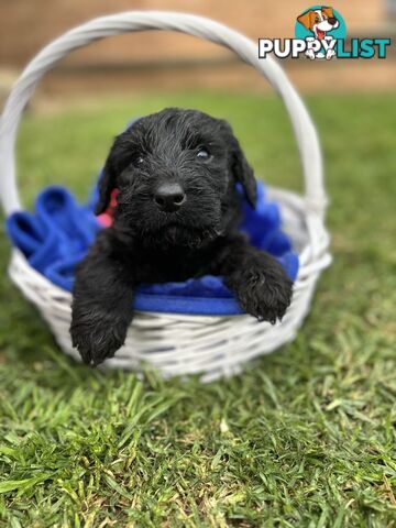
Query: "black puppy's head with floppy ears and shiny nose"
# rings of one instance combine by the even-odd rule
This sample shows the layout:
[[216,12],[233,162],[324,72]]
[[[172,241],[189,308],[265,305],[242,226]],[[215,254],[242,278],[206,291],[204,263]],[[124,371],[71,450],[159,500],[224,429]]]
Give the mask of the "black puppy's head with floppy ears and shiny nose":
[[195,110],[165,109],[116,139],[97,213],[118,188],[116,222],[153,244],[199,245],[235,217],[237,180],[254,206],[254,176],[229,124]]

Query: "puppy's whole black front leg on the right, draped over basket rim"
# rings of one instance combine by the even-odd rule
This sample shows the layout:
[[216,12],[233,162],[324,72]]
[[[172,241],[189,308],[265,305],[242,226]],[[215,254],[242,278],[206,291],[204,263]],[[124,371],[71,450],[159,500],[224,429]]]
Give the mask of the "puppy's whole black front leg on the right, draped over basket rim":
[[240,235],[229,241],[227,252],[221,272],[241,307],[261,321],[282,320],[293,289],[283,266]]

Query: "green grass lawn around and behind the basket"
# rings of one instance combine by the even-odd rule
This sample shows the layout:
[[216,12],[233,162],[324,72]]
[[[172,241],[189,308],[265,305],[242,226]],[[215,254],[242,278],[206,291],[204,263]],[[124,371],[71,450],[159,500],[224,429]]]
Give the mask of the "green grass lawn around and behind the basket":
[[[1,237],[1,526],[396,526],[395,102],[308,99],[334,263],[296,341],[240,377],[139,381],[75,364],[10,284]],[[227,117],[261,177],[301,187],[278,100],[177,94],[29,116],[28,204],[53,182],[82,198],[125,121],[169,105]]]

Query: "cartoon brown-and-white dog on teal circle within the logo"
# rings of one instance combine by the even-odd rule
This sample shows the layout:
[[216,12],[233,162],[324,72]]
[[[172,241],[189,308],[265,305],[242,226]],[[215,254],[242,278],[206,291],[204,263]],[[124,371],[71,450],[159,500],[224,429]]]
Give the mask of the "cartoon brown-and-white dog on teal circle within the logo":
[[[342,16],[333,8],[314,6],[297,16],[296,37],[305,38],[317,46],[308,47],[308,58],[327,58],[337,55],[337,40],[344,38],[345,24]],[[319,44],[321,43],[321,44]],[[319,51],[317,48],[319,47]]]

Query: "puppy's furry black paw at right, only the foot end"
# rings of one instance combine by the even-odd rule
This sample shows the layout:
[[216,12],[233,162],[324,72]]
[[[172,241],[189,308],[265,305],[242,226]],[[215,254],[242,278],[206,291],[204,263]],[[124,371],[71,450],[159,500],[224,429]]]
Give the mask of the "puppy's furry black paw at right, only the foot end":
[[280,267],[267,273],[262,270],[241,272],[233,290],[241,307],[260,321],[282,321],[292,301],[293,283]]

